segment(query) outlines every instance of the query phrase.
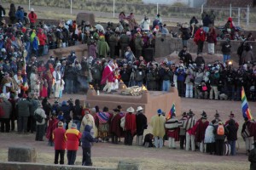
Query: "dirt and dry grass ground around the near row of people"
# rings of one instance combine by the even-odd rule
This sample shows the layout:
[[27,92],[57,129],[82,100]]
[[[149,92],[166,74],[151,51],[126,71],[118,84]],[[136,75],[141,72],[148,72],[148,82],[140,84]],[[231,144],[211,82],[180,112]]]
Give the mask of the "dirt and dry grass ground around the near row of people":
[[[62,100],[69,98],[86,99],[85,95],[64,95]],[[255,102],[251,102],[250,108],[256,111]],[[112,109],[112,108],[110,108]],[[177,170],[194,170],[194,169],[219,169],[219,170],[241,170],[249,169],[247,161],[245,144],[241,139],[241,125],[243,122],[241,116],[240,101],[220,101],[204,99],[182,99],[182,111],[195,112],[195,117],[200,118],[202,111],[206,111],[208,119],[211,121],[215,111],[221,115],[223,121],[228,120],[230,111],[236,115],[236,121],[240,124],[238,143],[240,149],[236,156],[211,156],[202,154],[199,151],[172,150],[166,146],[163,149],[144,148],[136,145],[125,146],[122,142],[118,145],[110,143],[97,143],[92,147],[93,165],[96,167],[116,167],[119,160],[139,161],[143,169],[177,169]],[[255,116],[253,112],[253,116]],[[149,129],[145,132],[150,132]],[[35,134],[19,135],[17,133],[0,133],[0,161],[8,161],[8,148],[10,146],[30,146],[38,151],[38,162],[51,164],[54,161],[54,148],[44,142],[34,140]],[[135,139],[134,139],[135,142]],[[177,143],[178,144],[178,143]],[[167,145],[167,141],[166,141]],[[79,148],[76,164],[80,165],[82,160],[82,149]],[[65,157],[65,162],[67,159]]]

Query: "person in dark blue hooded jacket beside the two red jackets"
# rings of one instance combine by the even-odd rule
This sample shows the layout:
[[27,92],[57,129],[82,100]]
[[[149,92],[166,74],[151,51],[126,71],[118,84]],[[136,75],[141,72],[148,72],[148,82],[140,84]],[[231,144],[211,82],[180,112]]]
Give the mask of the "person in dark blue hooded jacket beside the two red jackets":
[[82,141],[82,148],[83,148],[83,166],[92,166],[91,158],[90,158],[90,148],[92,142],[98,142],[98,139],[94,139],[90,135],[90,126],[86,125],[84,127],[84,133],[82,135],[81,141]]

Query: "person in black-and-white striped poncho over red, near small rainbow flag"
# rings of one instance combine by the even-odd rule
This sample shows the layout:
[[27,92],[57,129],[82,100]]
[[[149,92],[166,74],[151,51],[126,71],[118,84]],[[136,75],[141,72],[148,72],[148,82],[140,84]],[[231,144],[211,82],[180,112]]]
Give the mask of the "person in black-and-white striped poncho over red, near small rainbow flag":
[[178,121],[175,114],[166,121],[166,135],[168,136],[169,148],[176,149],[175,141],[178,140]]

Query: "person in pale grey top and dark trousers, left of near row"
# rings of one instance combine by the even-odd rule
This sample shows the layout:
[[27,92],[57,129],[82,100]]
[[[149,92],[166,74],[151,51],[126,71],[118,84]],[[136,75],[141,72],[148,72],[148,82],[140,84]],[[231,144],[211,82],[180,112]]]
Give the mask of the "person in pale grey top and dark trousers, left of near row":
[[37,141],[44,141],[44,124],[45,124],[45,111],[43,109],[43,105],[38,102],[38,109],[34,112],[35,115],[43,117],[42,122],[36,122],[37,123],[37,129],[36,129],[36,140]]

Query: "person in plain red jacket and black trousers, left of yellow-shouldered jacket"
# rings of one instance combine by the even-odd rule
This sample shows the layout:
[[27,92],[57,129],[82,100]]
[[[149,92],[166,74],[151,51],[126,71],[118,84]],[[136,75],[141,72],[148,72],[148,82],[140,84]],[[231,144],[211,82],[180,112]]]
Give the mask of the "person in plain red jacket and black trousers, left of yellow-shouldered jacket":
[[55,143],[55,164],[58,164],[59,155],[61,156],[60,164],[64,164],[67,137],[63,122],[58,122],[58,128],[55,128],[53,132],[53,140]]

